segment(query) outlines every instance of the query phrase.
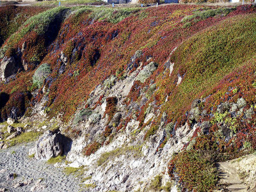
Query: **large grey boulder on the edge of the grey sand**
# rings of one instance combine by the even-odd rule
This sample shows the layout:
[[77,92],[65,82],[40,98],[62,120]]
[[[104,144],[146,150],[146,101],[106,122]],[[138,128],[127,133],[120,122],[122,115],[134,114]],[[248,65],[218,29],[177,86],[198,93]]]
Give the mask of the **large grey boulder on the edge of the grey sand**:
[[35,159],[49,160],[51,157],[62,156],[68,152],[71,141],[60,132],[46,131],[36,141],[35,147],[29,150],[29,155],[35,154]]

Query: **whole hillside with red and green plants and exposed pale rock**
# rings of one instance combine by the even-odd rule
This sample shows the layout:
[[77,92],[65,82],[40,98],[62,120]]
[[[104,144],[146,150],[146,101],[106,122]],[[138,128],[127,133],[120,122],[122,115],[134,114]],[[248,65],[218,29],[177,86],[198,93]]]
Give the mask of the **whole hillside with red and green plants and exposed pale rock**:
[[217,162],[256,147],[255,12],[0,7],[0,146],[60,129],[84,191],[224,189]]

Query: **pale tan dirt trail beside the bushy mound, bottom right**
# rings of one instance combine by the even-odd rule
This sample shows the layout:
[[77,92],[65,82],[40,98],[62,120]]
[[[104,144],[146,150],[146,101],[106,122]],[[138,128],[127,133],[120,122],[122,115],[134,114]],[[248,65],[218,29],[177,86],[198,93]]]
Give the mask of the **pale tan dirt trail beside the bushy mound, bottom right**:
[[246,192],[246,185],[239,178],[236,167],[230,161],[217,164],[220,175],[220,184],[227,186],[228,191]]

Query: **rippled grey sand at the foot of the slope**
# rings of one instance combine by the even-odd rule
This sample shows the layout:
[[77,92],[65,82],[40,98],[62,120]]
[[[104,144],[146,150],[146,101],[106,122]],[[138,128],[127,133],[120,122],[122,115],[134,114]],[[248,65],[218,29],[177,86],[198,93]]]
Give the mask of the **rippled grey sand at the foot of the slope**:
[[[33,146],[33,143],[24,146],[19,145],[6,150],[0,150],[0,188],[6,188],[10,191],[30,191],[31,187],[35,186],[38,179],[43,179],[42,184],[47,186],[40,191],[79,191],[79,180],[73,175],[66,175],[61,168],[55,168],[45,161],[36,161],[28,157],[28,150]],[[1,173],[1,170],[6,172]],[[9,173],[16,173],[17,178],[6,181],[6,176]],[[19,180],[33,179],[33,183],[13,188]]]

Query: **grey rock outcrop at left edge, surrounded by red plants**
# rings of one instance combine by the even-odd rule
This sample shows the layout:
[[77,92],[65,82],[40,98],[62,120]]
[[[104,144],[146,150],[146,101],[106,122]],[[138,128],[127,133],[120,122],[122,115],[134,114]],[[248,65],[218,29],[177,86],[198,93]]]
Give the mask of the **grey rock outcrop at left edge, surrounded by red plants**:
[[15,62],[14,58],[4,57],[1,61],[0,76],[4,81],[6,78],[16,74],[19,70],[19,65]]

